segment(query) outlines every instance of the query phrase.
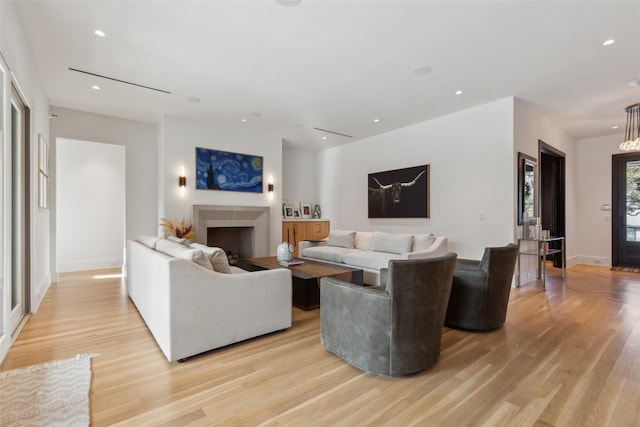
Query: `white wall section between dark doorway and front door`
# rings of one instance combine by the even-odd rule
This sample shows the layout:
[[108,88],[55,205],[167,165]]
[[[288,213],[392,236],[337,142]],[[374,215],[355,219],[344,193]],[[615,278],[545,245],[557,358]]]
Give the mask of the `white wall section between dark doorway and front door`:
[[611,203],[611,156],[621,154],[624,135],[591,138],[577,142],[577,233],[576,262],[611,265],[611,211],[601,209]]

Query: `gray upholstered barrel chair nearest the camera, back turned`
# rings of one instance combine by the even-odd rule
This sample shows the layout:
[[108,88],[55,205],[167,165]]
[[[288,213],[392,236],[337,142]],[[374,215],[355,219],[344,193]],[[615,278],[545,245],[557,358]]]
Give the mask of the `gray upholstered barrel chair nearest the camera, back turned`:
[[429,368],[440,357],[456,257],[389,261],[380,286],[323,278],[322,345],[367,372],[399,376]]

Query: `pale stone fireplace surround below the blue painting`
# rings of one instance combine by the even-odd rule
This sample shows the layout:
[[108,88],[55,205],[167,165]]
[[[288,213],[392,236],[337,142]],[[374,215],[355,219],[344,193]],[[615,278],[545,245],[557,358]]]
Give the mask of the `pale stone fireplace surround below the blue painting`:
[[253,256],[269,256],[268,206],[193,205],[194,241],[207,244],[207,228],[253,227]]

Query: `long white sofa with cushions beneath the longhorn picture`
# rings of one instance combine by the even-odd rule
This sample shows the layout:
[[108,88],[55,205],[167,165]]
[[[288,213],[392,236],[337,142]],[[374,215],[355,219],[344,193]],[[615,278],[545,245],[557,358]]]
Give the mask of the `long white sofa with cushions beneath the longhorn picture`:
[[322,241],[298,244],[301,258],[361,268],[364,283],[378,285],[392,259],[432,258],[448,252],[447,238],[433,234],[334,230]]

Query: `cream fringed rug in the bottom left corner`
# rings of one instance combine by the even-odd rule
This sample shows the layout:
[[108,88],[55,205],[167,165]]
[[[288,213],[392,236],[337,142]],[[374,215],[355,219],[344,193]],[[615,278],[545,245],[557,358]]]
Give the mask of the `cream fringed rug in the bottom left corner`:
[[0,372],[0,426],[88,426],[91,359]]

